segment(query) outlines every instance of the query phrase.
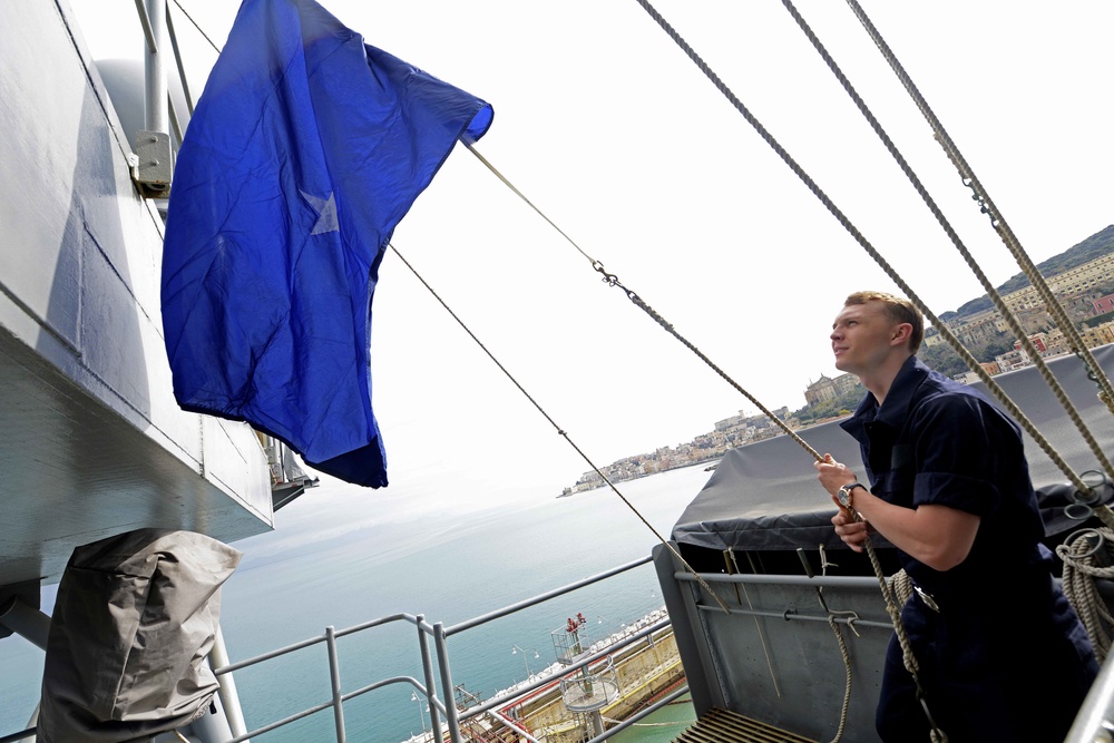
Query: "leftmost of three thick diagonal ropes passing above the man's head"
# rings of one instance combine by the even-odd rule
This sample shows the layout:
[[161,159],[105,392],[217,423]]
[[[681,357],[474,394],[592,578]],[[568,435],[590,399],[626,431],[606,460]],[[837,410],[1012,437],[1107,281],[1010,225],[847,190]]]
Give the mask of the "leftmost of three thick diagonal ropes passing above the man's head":
[[[907,284],[906,281],[901,278],[901,276],[893,270],[892,266],[890,266],[890,264],[886,261],[886,258],[882,257],[882,255],[878,252],[878,250],[874,248],[873,245],[871,245],[870,241],[866,238],[866,236],[859,231],[859,228],[856,227],[848,218],[848,216],[843,214],[843,212],[836,205],[836,203],[831,199],[831,197],[829,197],[828,194],[825,194],[823,189],[820,188],[817,182],[813,180],[812,177],[804,172],[804,168],[802,168],[801,165],[793,159],[792,155],[790,155],[789,151],[773,137],[773,135],[770,134],[769,129],[766,129],[762,125],[762,123],[759,121],[758,118],[755,118],[755,116],[750,111],[750,109],[746,108],[743,101],[740,100],[734,92],[732,92],[732,90],[707,66],[707,63],[700,57],[700,55],[696,53],[696,51],[692,48],[692,46],[690,46],[688,42],[685,41],[680,33],[677,33],[677,31],[670,25],[670,22],[665,20],[665,18],[659,12],[657,12],[657,10],[654,9],[654,7],[651,6],[647,0],[637,0],[637,2],[646,10],[647,13],[649,13],[651,18],[657,21],[657,25],[662,27],[662,29],[670,36],[670,38],[672,38],[674,42],[682,50],[684,50],[684,52],[688,56],[688,58],[693,61],[693,63],[695,63],[700,68],[700,70],[704,72],[704,76],[712,81],[712,84],[716,87],[716,89],[719,89],[720,92],[722,92],[723,96],[727,98],[727,100],[735,107],[735,109],[743,116],[743,118],[746,119],[747,124],[750,124],[751,127],[753,127],[754,130],[759,134],[759,136],[761,136],[762,139],[765,140],[768,145],[770,145],[770,147],[778,154],[779,157],[781,157],[781,159],[785,163],[785,165],[788,165],[789,168],[801,179],[801,182],[804,183],[804,185],[809,188],[809,190],[811,190],[812,194],[818,199],[820,199],[820,203],[823,204],[824,207],[832,214],[832,216],[836,217],[836,219],[843,226],[843,228],[848,232],[848,234],[850,234],[856,239],[856,242],[858,242],[859,245],[862,246],[862,250],[864,250],[867,254],[874,260],[874,263],[877,263],[879,267],[881,267],[882,271],[886,272],[886,275],[889,276],[893,281],[893,283],[897,284],[899,289],[901,289],[901,291],[909,299],[909,301],[912,302],[917,306],[917,309],[919,309],[925,314],[925,317],[932,324],[934,327],[936,327],[940,332],[940,335],[944,338],[945,341],[947,341],[948,345],[950,345],[952,350],[955,350],[955,352],[959,354],[960,359],[962,359],[964,362],[970,368],[970,370],[975,372],[975,374],[983,381],[984,384],[986,384],[987,390],[993,392],[994,395],[998,398],[998,400],[1003,403],[1006,410],[1014,417],[1014,419],[1017,420],[1018,422],[1023,420],[1027,421],[1028,419],[1025,417],[1025,413],[1023,413],[1022,410],[1013,402],[1013,400],[1009,399],[1009,397],[1005,393],[1005,391],[1003,391],[1003,389],[998,385],[998,383],[990,378],[990,374],[988,374],[987,371],[983,369],[978,360],[975,359],[975,356],[973,356],[971,353],[966,348],[964,348],[962,343],[960,343],[959,339],[957,339],[955,334],[952,334],[951,331],[948,330],[947,325],[940,322],[939,317],[937,317],[936,314],[928,309],[928,306],[920,300],[917,293],[912,291],[912,287],[910,287],[909,284]],[[1084,483],[1082,479],[1079,479],[1079,477],[1072,470],[1072,468],[1067,465],[1067,462],[1064,461],[1064,458],[1061,457],[1059,452],[1057,452],[1053,448],[1052,443],[1049,443],[1049,441],[1044,437],[1043,433],[1037,431],[1036,428],[1032,426],[1032,423],[1029,423],[1026,427],[1026,430],[1029,431],[1034,441],[1037,442],[1040,449],[1044,450],[1044,452],[1048,456],[1048,458],[1057,467],[1061,468],[1061,470],[1065,473],[1065,476],[1067,476],[1067,478],[1081,492],[1091,491],[1091,488],[1086,483]]]

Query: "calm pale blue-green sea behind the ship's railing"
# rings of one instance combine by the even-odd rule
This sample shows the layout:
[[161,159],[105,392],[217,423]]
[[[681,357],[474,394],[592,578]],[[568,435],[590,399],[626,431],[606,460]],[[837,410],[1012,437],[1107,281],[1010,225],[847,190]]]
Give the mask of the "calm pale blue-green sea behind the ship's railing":
[[[618,487],[668,537],[707,478],[697,466]],[[348,492],[349,487],[330,481],[309,491],[276,515],[274,531],[234,545],[244,558],[224,586],[222,606],[233,661],[321,635],[326,625],[342,629],[399,613],[449,626],[636,560],[657,544],[607,489],[486,510],[458,504],[430,512],[405,499]],[[482,493],[473,498],[485,502]],[[52,595],[43,598],[49,612]],[[453,635],[448,641],[453,682],[489,698],[555,662],[550,633],[568,617],[583,614],[594,641],[663,604],[653,566],[645,565]],[[410,624],[344,637],[339,646],[345,691],[392,676],[422,678]],[[0,733],[27,722],[38,698],[41,663],[41,652],[27,642],[0,641]],[[242,669],[236,683],[250,727],[326,702],[324,647]],[[681,706],[691,714],[691,705]],[[348,739],[368,743],[398,743],[429,724],[422,702],[403,685],[345,703],[344,715]],[[328,741],[331,731],[331,712],[323,712],[258,740]]]

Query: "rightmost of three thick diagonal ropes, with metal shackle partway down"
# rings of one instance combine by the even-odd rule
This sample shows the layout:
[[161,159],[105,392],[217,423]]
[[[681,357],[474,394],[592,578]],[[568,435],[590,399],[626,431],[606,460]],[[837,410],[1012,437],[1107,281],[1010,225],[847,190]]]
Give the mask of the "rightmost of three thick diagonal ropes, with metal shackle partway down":
[[1068,343],[1071,343],[1072,345],[1072,351],[1074,351],[1075,354],[1079,356],[1079,359],[1084,362],[1084,365],[1086,366],[1087,370],[1088,379],[1091,379],[1098,385],[1101,390],[1100,398],[1103,400],[1104,403],[1106,403],[1106,407],[1110,408],[1112,412],[1114,412],[1114,387],[1111,385],[1111,381],[1107,378],[1106,373],[1103,371],[1103,368],[1098,364],[1098,361],[1095,359],[1094,354],[1091,353],[1091,350],[1087,348],[1086,343],[1083,342],[1083,339],[1079,336],[1078,332],[1075,329],[1075,324],[1072,323],[1072,321],[1067,317],[1067,314],[1064,312],[1061,302],[1053,295],[1052,291],[1048,289],[1048,284],[1047,282],[1045,282],[1044,276],[1040,275],[1040,272],[1033,264],[1033,261],[1025,252],[1025,248],[1022,247],[1022,244],[1017,239],[1017,236],[1014,234],[1014,231],[1006,223],[1006,218],[998,211],[998,207],[994,205],[994,202],[990,201],[990,195],[983,187],[983,184],[979,182],[978,177],[976,177],[975,172],[971,169],[970,165],[967,164],[967,160],[959,151],[959,148],[956,146],[956,143],[951,139],[947,130],[944,128],[944,124],[941,124],[940,119],[937,118],[935,111],[932,111],[931,107],[928,105],[928,101],[925,99],[920,90],[913,84],[912,78],[910,78],[909,74],[906,72],[905,67],[902,67],[901,62],[898,61],[898,58],[893,53],[893,50],[890,49],[888,43],[886,43],[886,40],[882,38],[881,33],[871,22],[866,11],[856,0],[847,0],[847,3],[851,8],[851,11],[854,13],[856,18],[858,18],[859,22],[862,25],[863,29],[866,29],[867,33],[870,36],[871,40],[874,42],[874,46],[878,47],[878,50],[882,53],[882,57],[886,58],[886,61],[889,63],[890,69],[893,70],[893,74],[897,75],[898,79],[901,81],[901,85],[905,86],[905,89],[909,92],[909,96],[913,99],[913,102],[917,105],[917,108],[920,109],[921,115],[924,115],[929,126],[932,127],[932,133],[935,135],[936,140],[940,144],[940,147],[944,148],[945,154],[951,160],[952,165],[955,165],[956,168],[959,170],[959,175],[960,177],[962,177],[964,185],[968,186],[971,189],[974,194],[973,198],[979,203],[980,211],[987,216],[989,216],[990,225],[998,233],[998,236],[1001,237],[1003,243],[1005,243],[1006,247],[1013,254],[1014,258],[1017,261],[1017,264],[1022,267],[1022,271],[1025,272],[1025,275],[1029,278],[1029,282],[1033,284],[1033,287],[1036,289],[1037,293],[1040,295],[1040,299],[1044,301],[1045,306],[1052,310],[1053,316],[1055,317],[1057,325],[1068,338]]

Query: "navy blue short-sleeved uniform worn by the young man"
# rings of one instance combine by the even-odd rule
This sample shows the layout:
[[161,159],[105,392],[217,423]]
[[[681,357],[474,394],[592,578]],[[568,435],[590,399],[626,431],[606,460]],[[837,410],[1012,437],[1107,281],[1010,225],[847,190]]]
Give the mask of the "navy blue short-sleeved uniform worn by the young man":
[[[1086,630],[1052,579],[1052,554],[1017,424],[977,390],[906,361],[879,408],[868,394],[841,423],[870,491],[980,517],[970,554],[946,571],[899,550],[916,594],[901,618],[937,725],[950,743],[1063,741],[1098,673]],[[890,641],[878,704],[883,741],[928,741],[901,646]]]

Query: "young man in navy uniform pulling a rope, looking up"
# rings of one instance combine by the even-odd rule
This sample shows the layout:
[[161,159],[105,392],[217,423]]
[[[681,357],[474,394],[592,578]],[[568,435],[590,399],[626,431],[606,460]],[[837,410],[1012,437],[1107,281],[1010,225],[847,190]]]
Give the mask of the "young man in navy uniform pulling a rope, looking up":
[[[898,548],[918,588],[901,618],[925,701],[950,743],[1063,741],[1098,664],[1039,544],[1020,430],[979,392],[921,363],[924,335],[920,312],[881,292],[851,294],[832,324],[836,368],[869,391],[841,426],[859,441],[870,483],[830,457],[815,465],[843,507],[832,524],[857,551],[868,528]],[[887,743],[929,740],[897,637],[876,724]]]

